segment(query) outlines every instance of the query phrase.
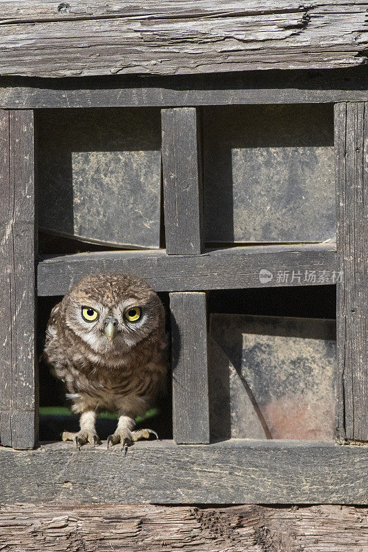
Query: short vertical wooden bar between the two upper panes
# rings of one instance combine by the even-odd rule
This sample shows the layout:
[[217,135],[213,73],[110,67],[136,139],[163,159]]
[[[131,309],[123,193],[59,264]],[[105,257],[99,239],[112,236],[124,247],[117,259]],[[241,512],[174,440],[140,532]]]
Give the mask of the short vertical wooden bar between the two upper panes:
[[166,252],[202,252],[202,155],[197,108],[162,110]]

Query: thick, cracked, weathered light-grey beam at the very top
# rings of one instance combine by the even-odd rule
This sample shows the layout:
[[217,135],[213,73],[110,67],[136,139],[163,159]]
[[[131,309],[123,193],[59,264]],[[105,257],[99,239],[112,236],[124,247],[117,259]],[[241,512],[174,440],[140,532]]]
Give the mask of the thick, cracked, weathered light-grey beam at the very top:
[[[338,68],[367,61],[366,1],[1,2],[1,75]],[[35,63],[37,60],[37,63]]]

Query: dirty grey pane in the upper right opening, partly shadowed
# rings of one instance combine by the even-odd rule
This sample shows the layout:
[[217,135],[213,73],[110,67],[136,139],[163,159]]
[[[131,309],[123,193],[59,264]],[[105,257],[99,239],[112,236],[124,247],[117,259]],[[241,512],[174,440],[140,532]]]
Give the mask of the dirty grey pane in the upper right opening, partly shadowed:
[[324,242],[336,234],[328,104],[204,108],[206,242]]

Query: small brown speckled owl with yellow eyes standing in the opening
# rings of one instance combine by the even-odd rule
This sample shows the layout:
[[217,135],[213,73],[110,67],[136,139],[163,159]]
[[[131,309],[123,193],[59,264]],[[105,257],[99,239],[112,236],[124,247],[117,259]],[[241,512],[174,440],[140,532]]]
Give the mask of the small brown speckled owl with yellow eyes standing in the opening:
[[135,417],[164,391],[168,365],[164,306],[144,280],[127,274],[81,279],[51,311],[43,357],[81,415],[80,431],[64,432],[63,440],[99,444],[99,411],[119,415],[108,444],[155,434],[133,431]]

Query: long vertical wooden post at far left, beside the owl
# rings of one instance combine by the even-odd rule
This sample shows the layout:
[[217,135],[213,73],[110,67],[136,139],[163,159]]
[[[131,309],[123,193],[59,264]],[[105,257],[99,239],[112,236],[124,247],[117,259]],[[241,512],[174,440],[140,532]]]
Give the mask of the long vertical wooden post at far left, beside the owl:
[[0,441],[37,440],[35,187],[32,110],[1,110]]

